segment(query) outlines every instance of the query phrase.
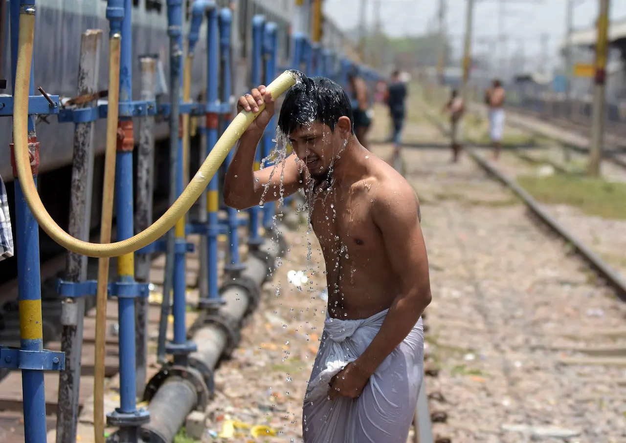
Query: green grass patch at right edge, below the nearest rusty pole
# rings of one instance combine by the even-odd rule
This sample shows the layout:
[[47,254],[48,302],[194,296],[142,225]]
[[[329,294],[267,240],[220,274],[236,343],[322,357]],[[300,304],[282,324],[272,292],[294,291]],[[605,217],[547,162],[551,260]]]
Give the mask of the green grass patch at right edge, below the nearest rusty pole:
[[583,177],[578,174],[520,176],[517,181],[536,200],[567,204],[585,214],[605,219],[626,219],[626,183]]

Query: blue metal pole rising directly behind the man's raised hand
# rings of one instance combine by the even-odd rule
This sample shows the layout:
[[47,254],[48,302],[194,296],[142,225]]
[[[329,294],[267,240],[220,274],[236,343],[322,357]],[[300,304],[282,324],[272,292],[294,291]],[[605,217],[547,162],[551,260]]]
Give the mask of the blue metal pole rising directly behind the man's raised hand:
[[[276,50],[277,50],[277,26],[274,22],[265,24],[263,39],[263,52],[265,58],[265,84],[270,84],[276,77]],[[265,157],[265,167],[270,167],[274,163],[269,160],[272,151],[272,140],[276,136],[275,117],[272,117],[265,128],[263,134],[263,156]],[[268,189],[267,192],[277,192],[275,189]],[[263,227],[270,231],[274,227],[275,202],[265,203],[263,207]]]

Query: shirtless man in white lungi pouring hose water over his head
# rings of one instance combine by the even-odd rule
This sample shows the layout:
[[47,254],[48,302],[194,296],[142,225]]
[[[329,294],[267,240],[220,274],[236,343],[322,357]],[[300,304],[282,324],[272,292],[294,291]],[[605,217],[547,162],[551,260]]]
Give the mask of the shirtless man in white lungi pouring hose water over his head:
[[431,301],[418,198],[362,146],[346,92],[320,77],[302,79],[280,109],[278,130],[294,153],[271,176],[272,168],[254,171],[274,99],[259,86],[238,102],[252,112],[263,102],[228,167],[224,199],[245,209],[262,195],[275,201],[282,186],[285,195],[304,187],[309,200],[329,299],[304,398],[304,442],[405,443],[423,374],[421,314]]

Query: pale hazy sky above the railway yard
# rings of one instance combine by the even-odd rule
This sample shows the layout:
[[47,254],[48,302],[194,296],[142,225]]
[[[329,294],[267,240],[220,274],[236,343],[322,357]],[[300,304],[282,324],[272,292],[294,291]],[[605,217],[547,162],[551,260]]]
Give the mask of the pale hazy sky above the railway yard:
[[[557,47],[565,34],[565,6],[567,0],[501,0],[505,1],[504,29],[511,41],[508,47],[517,49],[523,41],[526,57],[538,54],[540,37],[548,34],[550,56],[556,56]],[[487,47],[480,39],[498,33],[499,0],[475,0],[474,35],[476,51]],[[574,27],[592,26],[598,16],[598,0],[577,0],[574,10]],[[342,26],[353,28],[359,21],[361,0],[324,0],[324,10]],[[374,0],[366,0],[367,23],[374,25]],[[454,56],[459,56],[463,44],[466,0],[446,0],[447,27],[454,46]],[[403,36],[423,34],[438,29],[439,0],[381,0],[381,26],[387,34]],[[611,19],[626,18],[626,1],[611,0]]]

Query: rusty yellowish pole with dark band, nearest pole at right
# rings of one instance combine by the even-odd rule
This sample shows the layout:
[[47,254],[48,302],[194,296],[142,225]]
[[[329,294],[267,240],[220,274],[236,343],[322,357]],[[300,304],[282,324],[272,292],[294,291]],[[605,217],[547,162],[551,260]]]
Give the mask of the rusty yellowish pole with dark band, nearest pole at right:
[[596,25],[598,37],[595,44],[595,86],[593,88],[591,146],[589,149],[589,174],[593,177],[600,175],[602,144],[604,142],[605,81],[608,55],[608,5],[609,0],[600,0],[600,14],[598,15]]

